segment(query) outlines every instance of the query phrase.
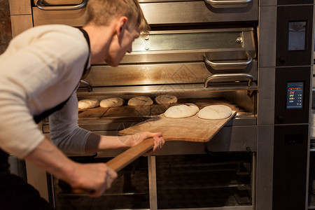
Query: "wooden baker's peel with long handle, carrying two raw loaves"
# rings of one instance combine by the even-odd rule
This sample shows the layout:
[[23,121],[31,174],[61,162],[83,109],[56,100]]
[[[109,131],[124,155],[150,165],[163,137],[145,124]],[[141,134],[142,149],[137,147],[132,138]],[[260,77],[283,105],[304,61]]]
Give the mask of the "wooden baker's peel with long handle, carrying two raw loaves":
[[[218,133],[228,121],[236,115],[232,111],[229,118],[221,120],[204,120],[193,116],[190,118],[166,118],[164,114],[151,118],[132,127],[119,132],[120,135],[132,135],[138,132],[162,132],[165,141],[194,141],[207,142]],[[119,172],[125,166],[144,155],[154,146],[152,138],[141,141],[136,146],[129,148],[127,151],[106,162],[115,172]],[[88,193],[83,189],[73,189],[73,193]]]

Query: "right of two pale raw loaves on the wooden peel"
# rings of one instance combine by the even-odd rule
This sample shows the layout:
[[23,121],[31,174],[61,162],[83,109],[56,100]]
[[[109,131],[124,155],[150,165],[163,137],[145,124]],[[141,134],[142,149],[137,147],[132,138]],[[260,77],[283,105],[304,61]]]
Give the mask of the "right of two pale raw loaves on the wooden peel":
[[198,112],[198,117],[209,120],[220,120],[230,117],[232,109],[225,105],[206,106]]

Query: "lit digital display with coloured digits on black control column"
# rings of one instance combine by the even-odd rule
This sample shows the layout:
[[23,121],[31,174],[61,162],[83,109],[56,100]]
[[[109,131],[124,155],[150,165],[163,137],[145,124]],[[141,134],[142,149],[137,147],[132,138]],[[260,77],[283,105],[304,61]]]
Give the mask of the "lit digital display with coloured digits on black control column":
[[286,109],[303,108],[303,82],[286,83]]

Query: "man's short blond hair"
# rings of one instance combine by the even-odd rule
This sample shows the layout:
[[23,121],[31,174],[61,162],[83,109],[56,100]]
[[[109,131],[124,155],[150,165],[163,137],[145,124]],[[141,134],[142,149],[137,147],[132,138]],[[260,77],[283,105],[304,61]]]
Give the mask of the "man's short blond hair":
[[137,0],[89,0],[85,24],[109,25],[113,18],[125,16],[128,25],[136,25],[141,34],[148,34],[150,27]]

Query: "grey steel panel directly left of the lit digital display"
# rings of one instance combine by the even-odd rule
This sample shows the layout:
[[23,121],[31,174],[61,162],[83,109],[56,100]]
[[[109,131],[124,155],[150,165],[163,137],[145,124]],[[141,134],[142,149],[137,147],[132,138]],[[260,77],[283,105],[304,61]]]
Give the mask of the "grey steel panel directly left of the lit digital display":
[[274,68],[259,69],[258,125],[274,125]]

